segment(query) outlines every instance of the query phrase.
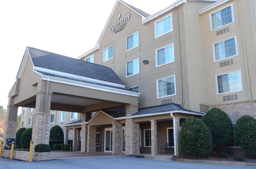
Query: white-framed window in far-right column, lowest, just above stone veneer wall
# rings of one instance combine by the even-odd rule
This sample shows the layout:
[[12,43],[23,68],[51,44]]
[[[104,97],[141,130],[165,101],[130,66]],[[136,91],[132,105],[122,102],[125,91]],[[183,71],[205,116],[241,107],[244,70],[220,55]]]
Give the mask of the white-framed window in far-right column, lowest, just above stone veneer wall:
[[217,95],[243,90],[241,70],[215,75]]

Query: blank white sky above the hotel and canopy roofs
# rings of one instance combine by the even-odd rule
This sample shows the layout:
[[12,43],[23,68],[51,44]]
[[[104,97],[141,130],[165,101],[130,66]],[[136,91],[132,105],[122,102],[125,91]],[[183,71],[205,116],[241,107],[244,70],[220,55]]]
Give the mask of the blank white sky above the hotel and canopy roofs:
[[[26,46],[76,58],[95,46],[115,2],[0,1],[0,105],[7,108]],[[124,2],[154,14],[175,0]]]

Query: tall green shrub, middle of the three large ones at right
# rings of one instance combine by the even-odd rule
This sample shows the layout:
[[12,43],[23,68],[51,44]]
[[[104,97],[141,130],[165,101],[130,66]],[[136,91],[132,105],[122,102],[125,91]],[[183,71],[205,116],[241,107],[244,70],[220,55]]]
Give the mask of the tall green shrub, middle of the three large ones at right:
[[223,152],[232,137],[233,126],[228,114],[218,108],[212,108],[204,116],[204,123],[210,129],[213,150]]

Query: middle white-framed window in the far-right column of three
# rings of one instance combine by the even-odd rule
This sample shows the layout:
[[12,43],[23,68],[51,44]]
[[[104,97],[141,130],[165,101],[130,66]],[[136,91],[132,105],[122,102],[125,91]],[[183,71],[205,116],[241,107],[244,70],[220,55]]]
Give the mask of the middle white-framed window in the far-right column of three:
[[214,61],[230,58],[238,55],[237,38],[231,38],[213,44]]

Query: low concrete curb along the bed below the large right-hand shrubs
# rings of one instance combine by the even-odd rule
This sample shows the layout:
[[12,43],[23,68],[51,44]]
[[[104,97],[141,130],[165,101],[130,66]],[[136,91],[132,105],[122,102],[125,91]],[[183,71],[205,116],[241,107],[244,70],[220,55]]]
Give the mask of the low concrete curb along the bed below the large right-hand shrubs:
[[144,155],[146,159],[162,160],[162,161],[179,161],[189,163],[206,163],[206,164],[218,164],[218,165],[234,165],[234,166],[248,166],[256,167],[256,163],[243,163],[243,162],[229,162],[229,161],[212,161],[212,160],[191,160],[191,159],[178,159],[178,158],[165,158],[151,155]]

